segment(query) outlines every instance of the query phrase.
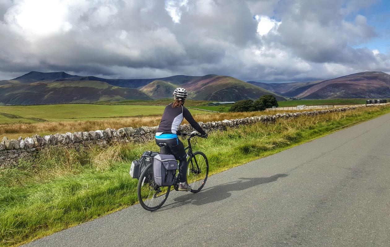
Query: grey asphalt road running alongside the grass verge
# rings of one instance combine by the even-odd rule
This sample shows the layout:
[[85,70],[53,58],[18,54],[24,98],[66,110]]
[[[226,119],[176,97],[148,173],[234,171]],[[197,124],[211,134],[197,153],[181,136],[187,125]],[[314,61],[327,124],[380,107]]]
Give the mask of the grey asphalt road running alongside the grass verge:
[[389,247],[389,140],[387,114],[25,246]]

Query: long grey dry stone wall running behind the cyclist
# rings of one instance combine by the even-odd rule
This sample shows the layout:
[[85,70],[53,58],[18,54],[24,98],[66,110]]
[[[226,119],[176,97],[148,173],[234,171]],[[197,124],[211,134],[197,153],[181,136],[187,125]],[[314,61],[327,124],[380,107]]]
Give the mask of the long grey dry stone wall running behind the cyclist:
[[[376,106],[388,104],[390,103],[376,104]],[[242,119],[230,119],[207,123],[199,122],[199,124],[200,126],[202,126],[202,128],[204,128],[204,130],[206,130],[206,132],[209,133],[217,130],[226,130],[229,127],[236,128],[242,125],[254,123],[275,123],[278,118],[314,116],[330,112],[352,110],[358,107],[370,107],[370,105],[360,105],[327,110],[314,110],[308,112],[255,116],[246,117]],[[7,137],[4,137],[2,142],[0,142],[0,168],[16,165],[18,159],[23,157],[29,157],[32,153],[39,152],[40,150],[47,147],[66,147],[80,149],[80,147],[91,147],[92,145],[106,147],[107,145],[113,143],[147,142],[150,140],[154,140],[156,130],[157,126],[142,126],[140,128],[126,127],[121,128],[119,130],[107,128],[105,130],[46,135],[44,137],[34,135],[25,139],[19,137],[18,140],[8,140]],[[184,124],[179,126],[179,130],[183,132],[190,132],[193,131],[193,128],[188,124]]]

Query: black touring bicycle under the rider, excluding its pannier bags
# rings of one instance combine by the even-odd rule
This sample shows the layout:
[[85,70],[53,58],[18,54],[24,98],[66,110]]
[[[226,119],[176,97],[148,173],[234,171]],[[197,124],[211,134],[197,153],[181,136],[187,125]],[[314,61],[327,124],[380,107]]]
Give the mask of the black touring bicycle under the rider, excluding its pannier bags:
[[[191,138],[200,137],[200,134],[197,133],[197,131],[193,131],[190,134],[180,133],[180,135],[188,136],[188,146],[185,148],[186,157],[188,158],[187,182],[192,187],[191,192],[197,193],[206,184],[209,175],[209,161],[207,160],[206,154],[203,152],[192,152]],[[169,149],[167,145],[162,146]],[[173,185],[176,191],[178,191],[180,182],[178,174],[178,170],[176,170]],[[144,209],[154,211],[160,208],[167,200],[170,191],[171,186],[158,186],[154,182],[153,164],[148,165],[141,172],[137,186],[137,195],[140,205]]]

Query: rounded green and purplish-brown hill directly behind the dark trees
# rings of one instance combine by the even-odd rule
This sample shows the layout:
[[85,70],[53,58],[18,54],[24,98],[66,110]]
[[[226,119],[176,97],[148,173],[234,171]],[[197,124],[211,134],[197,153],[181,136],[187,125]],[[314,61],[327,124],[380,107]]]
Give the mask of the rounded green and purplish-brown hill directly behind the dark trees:
[[205,75],[182,85],[195,100],[237,101],[258,99],[262,95],[274,95],[277,100],[285,100],[264,88],[224,75]]

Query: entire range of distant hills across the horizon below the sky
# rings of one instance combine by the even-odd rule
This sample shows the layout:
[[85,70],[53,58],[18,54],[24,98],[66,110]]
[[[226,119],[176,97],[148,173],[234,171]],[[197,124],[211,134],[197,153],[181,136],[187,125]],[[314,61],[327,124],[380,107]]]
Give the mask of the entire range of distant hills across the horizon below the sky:
[[361,72],[309,82],[264,83],[241,81],[225,75],[174,75],[156,79],[105,79],[65,72],[32,71],[0,81],[0,105],[93,103],[100,101],[152,100],[172,97],[177,87],[186,88],[194,100],[238,101],[274,95],[289,98],[388,98],[390,75]]

